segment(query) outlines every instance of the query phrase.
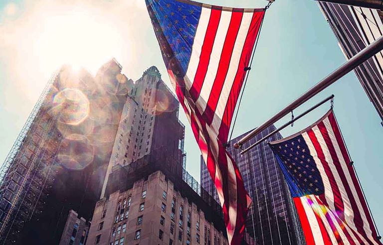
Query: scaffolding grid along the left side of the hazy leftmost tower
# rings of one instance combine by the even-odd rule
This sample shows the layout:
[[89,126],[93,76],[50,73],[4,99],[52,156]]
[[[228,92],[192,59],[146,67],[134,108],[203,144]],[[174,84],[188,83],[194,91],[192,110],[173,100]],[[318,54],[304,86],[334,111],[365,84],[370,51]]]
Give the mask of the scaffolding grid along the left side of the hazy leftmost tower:
[[[0,169],[0,241],[14,243],[25,222],[45,197],[44,188],[53,165],[57,147],[51,142],[54,120],[43,109],[48,94],[58,78],[56,71],[44,87],[26,123],[23,125]],[[42,112],[44,111],[44,112]],[[36,142],[37,141],[37,142]],[[57,140],[56,140],[57,141]],[[46,194],[46,193],[45,193]]]

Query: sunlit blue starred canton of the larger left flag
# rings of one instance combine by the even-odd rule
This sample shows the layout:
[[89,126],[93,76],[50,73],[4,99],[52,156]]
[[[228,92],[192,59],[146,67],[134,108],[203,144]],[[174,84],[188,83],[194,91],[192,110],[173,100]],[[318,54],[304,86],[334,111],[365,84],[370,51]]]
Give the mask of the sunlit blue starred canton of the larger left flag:
[[[176,0],[146,0],[150,4],[161,29],[155,29],[156,34],[161,32],[167,40],[171,50],[162,46],[163,55],[176,58],[180,64],[181,73],[185,74],[190,57],[192,55],[192,45],[195,31],[197,29],[201,6],[192,5]],[[169,64],[166,64],[167,67]]]

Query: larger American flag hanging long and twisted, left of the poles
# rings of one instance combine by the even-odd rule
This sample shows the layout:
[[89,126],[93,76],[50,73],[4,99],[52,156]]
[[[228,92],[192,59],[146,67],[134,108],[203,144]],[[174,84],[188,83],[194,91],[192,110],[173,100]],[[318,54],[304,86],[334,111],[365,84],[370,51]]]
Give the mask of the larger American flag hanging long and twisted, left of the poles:
[[223,146],[264,9],[189,0],[146,0],[170,80],[221,202],[227,236],[239,244],[251,200]]

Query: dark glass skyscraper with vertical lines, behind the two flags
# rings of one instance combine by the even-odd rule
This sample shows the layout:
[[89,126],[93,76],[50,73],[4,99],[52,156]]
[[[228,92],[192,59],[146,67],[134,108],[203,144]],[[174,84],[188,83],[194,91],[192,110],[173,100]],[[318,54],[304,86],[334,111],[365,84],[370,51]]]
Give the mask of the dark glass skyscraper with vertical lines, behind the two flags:
[[[274,125],[269,126],[246,142],[243,147],[250,146],[273,130],[275,130]],[[247,215],[248,234],[260,245],[304,244],[290,192],[278,162],[267,143],[262,142],[243,155],[233,147],[234,143],[246,134],[232,139],[227,149],[235,160],[242,174],[245,188],[253,201]],[[268,141],[281,138],[281,134],[277,133],[268,138]],[[200,165],[202,188],[219,201],[202,158]]]

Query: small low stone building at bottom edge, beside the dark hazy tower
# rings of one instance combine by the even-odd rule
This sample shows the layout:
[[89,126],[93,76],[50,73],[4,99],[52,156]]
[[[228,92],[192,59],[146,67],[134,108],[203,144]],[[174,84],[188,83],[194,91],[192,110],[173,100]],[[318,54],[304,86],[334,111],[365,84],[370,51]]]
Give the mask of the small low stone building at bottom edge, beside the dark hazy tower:
[[88,238],[90,223],[70,210],[62,231],[59,245],[84,245]]

